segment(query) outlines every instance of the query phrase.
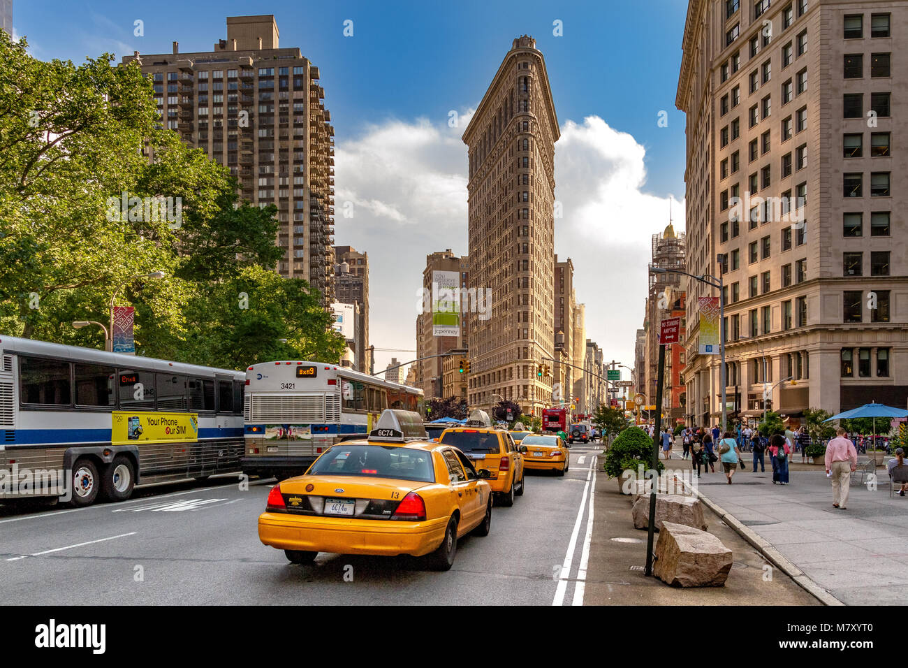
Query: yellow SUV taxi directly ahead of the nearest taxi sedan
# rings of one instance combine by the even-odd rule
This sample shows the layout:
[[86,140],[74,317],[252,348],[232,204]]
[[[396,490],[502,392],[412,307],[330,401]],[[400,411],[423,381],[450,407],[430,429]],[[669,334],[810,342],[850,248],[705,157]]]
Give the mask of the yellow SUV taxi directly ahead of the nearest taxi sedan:
[[485,411],[473,411],[467,424],[443,431],[439,443],[458,448],[477,470],[488,471],[492,493],[502,505],[514,505],[514,497],[523,495],[526,449],[514,443],[510,432],[492,426]]

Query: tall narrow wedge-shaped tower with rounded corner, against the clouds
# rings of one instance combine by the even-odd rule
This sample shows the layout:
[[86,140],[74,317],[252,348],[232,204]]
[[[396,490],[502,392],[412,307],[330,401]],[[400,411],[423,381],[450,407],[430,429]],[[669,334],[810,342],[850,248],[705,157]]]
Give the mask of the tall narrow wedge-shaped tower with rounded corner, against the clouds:
[[558,117],[536,40],[515,39],[469,122],[471,288],[492,315],[469,314],[469,404],[514,401],[525,414],[551,403],[555,347],[554,156]]

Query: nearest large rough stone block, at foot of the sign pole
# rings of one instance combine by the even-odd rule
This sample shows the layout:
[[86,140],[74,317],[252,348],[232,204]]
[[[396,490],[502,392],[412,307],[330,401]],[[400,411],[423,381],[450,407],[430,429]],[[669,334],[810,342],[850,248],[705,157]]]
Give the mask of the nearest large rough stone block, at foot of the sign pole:
[[732,569],[732,551],[712,533],[666,522],[656,542],[653,574],[674,587],[721,587]]

